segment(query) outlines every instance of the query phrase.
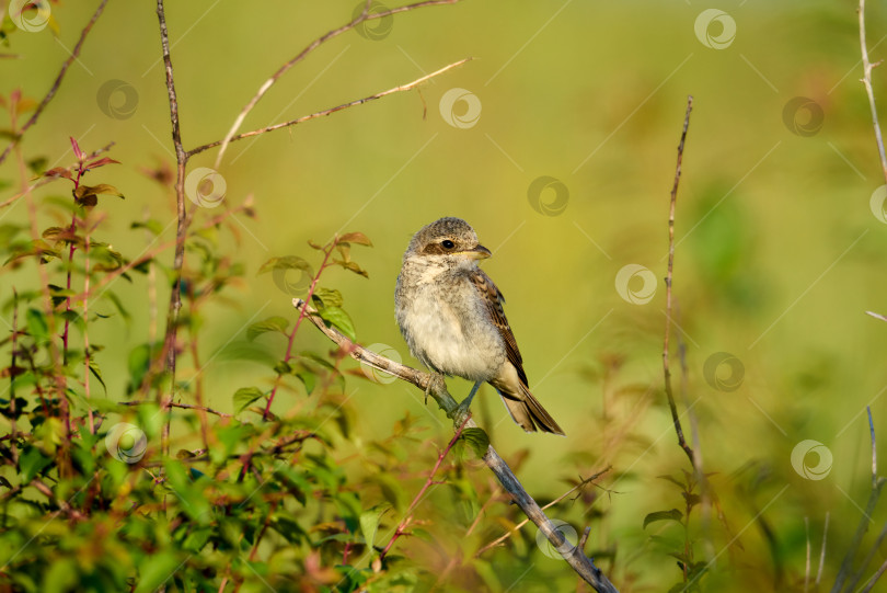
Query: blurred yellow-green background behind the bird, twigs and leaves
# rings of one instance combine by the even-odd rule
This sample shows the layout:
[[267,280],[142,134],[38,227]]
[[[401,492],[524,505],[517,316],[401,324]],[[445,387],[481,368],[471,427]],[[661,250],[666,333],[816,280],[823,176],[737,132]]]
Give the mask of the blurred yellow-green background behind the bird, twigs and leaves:
[[[3,60],[0,93],[21,88],[26,96],[42,98],[93,4],[53,4],[57,38],[49,28],[16,33],[9,52],[18,59]],[[88,151],[116,142],[111,157],[123,164],[103,169],[101,181],[119,187],[126,199],[103,202],[110,217],[103,238],[128,258],[147,248],[143,231],[128,228],[146,212],[170,223],[165,239],[174,236],[171,193],[140,171],[174,163],[154,8],[108,4],[22,144],[27,156],[45,156],[51,167],[72,162],[69,136]],[[355,8],[352,1],[171,2],[185,148],[221,139],[279,65],[345,23]],[[270,315],[295,318],[290,295],[270,274],[256,275],[258,267],[283,255],[316,265],[307,241],[325,242],[335,232],[359,230],[373,241],[373,248],[356,247],[353,253],[369,280],[331,270],[322,284],[343,293],[361,343],[383,344],[415,365],[393,316],[401,255],[419,227],[459,216],[494,252],[483,265],[508,299],[530,386],[567,437],[523,434],[488,387],[475,400],[475,415],[504,456],[531,451],[520,478],[540,498],[563,492],[563,480],[575,478],[578,468],[588,475],[613,464],[607,483],[618,493],[595,503],[609,521],[591,541],[618,546],[625,562],[620,570],[636,571],[641,589],[657,589],[663,574],[676,578],[670,550],[650,536],[681,540],[679,527],[656,523],[644,529],[642,522],[646,513],[682,504],[679,492],[657,476],[687,466],[661,390],[661,341],[668,199],[692,94],[673,283],[680,329],[672,329],[672,344],[680,339],[687,349],[683,395],[677,355],[671,367],[680,410],[689,403],[696,417],[704,469],[715,472],[729,526],[705,551],[735,572],[710,581],[711,590],[772,582],[745,571],[748,565],[763,570],[767,558],[777,558],[796,584],[804,572],[805,521],[816,557],[827,513],[823,582],[830,582],[868,493],[866,404],[885,435],[882,442],[887,438],[887,398],[880,397],[887,390],[887,323],[864,313],[887,312],[887,226],[869,208],[884,179],[859,82],[856,5],[721,2],[716,8],[736,26],[727,42],[723,22],[703,24],[702,38],[694,31],[710,8],[698,0],[669,5],[468,0],[370,23],[367,35],[348,32],[285,75],[242,132],[474,58],[421,92],[230,146],[218,168],[227,183],[220,208],[253,196],[257,218],[238,218],[237,244],[230,233],[220,235],[230,242],[220,249],[244,263],[245,276],[224,293],[228,303],[204,311],[200,372],[211,404],[230,410],[235,387],[269,386],[273,377],[264,366],[235,360],[258,347],[246,342],[245,327]],[[882,7],[869,7],[867,25],[875,61],[887,55]],[[873,76],[875,94],[887,104],[887,71],[875,69]],[[113,80],[135,90],[136,105],[131,91],[119,90],[107,101],[100,96]],[[479,118],[465,127],[441,115],[441,99],[454,88],[472,93],[476,99],[470,101],[480,105]],[[793,103],[795,98],[806,100]],[[469,106],[458,101],[442,111],[459,121]],[[117,107],[125,113],[107,115]],[[215,158],[209,150],[192,159],[189,169],[212,167]],[[16,179],[13,159],[0,176]],[[568,197],[562,210],[533,207],[542,204],[544,210],[558,197],[554,187],[528,195],[541,176],[563,184],[566,193],[560,195]],[[0,201],[16,187],[4,190]],[[37,196],[65,192],[56,183]],[[196,224],[219,212],[198,212]],[[0,218],[24,223],[25,203],[0,210]],[[171,262],[171,252],[163,256]],[[620,296],[617,274],[627,264],[655,276],[648,303]],[[33,265],[4,272],[3,300],[13,284],[33,286],[35,277]],[[642,284],[635,277],[627,290]],[[118,281],[114,288],[134,322],[96,326],[91,341],[107,346],[97,360],[108,397],[117,399],[127,381],[126,355],[143,342],[149,316],[143,282]],[[161,304],[164,296],[161,290]],[[95,307],[113,312],[108,304]],[[161,318],[162,311],[163,306]],[[258,342],[268,350],[281,346],[272,337]],[[299,349],[329,347],[311,328],[300,331],[298,342]],[[717,367],[718,377],[739,384],[732,391],[704,376],[706,360],[722,352],[744,369],[730,377],[729,367]],[[183,378],[195,372],[188,364],[181,368]],[[470,387],[461,379],[448,383],[457,398]],[[449,421],[424,406],[415,389],[354,378],[346,394],[367,438],[384,438],[406,411],[434,429],[438,442],[449,434]],[[286,394],[275,409],[285,411],[298,397]],[[689,417],[683,420],[689,435]],[[825,479],[805,479],[793,468],[792,451],[804,440],[831,452]],[[807,458],[810,467],[817,463],[816,454]],[[871,527],[879,531],[886,516],[879,509]],[[768,544],[764,521],[776,544]],[[877,552],[873,568],[884,558]],[[552,563],[546,570],[556,566],[542,561]]]

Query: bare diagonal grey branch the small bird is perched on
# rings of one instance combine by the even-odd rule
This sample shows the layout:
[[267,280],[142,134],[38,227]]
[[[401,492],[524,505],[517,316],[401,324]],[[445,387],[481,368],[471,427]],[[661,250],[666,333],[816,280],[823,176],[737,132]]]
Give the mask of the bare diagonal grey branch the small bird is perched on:
[[[301,299],[292,299],[292,305],[299,310],[300,315],[306,315],[309,321],[354,360],[413,384],[424,392],[427,392],[434,398],[438,407],[447,412],[449,418],[456,417],[453,418],[453,422],[457,427],[463,423],[465,427],[476,426],[471,418],[465,419],[466,414],[456,413],[458,403],[447,391],[447,386],[441,377],[431,376],[406,365],[395,363],[359,344],[355,344],[335,328],[327,327],[318,315],[318,311]],[[617,592],[615,586],[613,586],[601,570],[595,566],[594,560],[586,557],[578,547],[569,546],[564,535],[557,529],[554,523],[545,516],[545,513],[539,508],[539,504],[527,493],[523,486],[492,445],[487,447],[483,460],[493,474],[495,474],[503,488],[510,493],[515,504],[539,527],[539,531],[545,535],[549,541],[551,541],[556,549],[565,550],[562,552],[564,560],[566,560],[585,582],[595,588],[599,593]]]

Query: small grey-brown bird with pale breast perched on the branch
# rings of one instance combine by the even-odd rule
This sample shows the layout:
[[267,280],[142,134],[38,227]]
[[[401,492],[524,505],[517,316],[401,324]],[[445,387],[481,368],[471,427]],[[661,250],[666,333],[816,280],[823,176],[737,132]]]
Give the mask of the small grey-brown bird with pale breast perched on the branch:
[[503,309],[505,298],[477,265],[491,255],[461,218],[440,218],[419,229],[398,275],[398,326],[423,365],[474,383],[460,404],[465,412],[481,385],[488,383],[521,429],[563,435],[530,392],[523,358]]

